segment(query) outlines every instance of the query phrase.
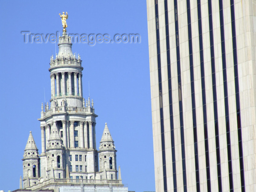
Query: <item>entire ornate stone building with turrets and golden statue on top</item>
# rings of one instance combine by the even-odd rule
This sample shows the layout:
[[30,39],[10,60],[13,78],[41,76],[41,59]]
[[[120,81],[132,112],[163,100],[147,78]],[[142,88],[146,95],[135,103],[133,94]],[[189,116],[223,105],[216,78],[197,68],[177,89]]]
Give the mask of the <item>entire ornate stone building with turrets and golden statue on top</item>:
[[[63,16],[64,15],[64,16]],[[61,15],[67,18],[67,15]],[[99,150],[96,147],[93,99],[85,101],[82,90],[82,60],[71,50],[67,23],[59,37],[59,53],[50,59],[50,106],[43,105],[41,117],[42,153],[30,132],[23,155],[20,190],[127,192],[116,163],[116,147],[107,123]],[[117,176],[118,173],[118,176]],[[23,187],[22,187],[23,184]],[[23,189],[22,189],[23,188]]]

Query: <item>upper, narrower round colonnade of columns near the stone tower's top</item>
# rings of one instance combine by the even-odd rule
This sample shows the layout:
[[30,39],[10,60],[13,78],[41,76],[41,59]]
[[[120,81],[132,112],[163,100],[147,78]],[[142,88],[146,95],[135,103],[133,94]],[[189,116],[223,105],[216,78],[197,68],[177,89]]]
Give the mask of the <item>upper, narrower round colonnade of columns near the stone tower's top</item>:
[[[65,82],[65,73],[68,74],[68,83]],[[61,76],[61,84],[60,84]],[[53,97],[59,97],[62,95],[75,95],[83,97],[82,93],[82,73],[78,72],[61,72],[50,75],[51,78],[51,95]],[[72,78],[74,78],[74,85],[72,86]],[[56,79],[56,83],[55,83]],[[77,82],[78,79],[78,82]],[[67,87],[67,90],[66,90]],[[72,87],[74,92],[72,92]]]

